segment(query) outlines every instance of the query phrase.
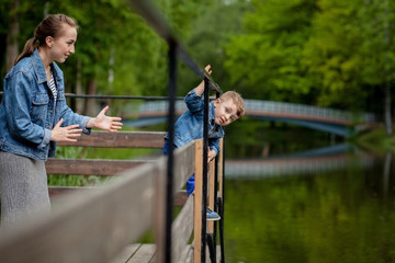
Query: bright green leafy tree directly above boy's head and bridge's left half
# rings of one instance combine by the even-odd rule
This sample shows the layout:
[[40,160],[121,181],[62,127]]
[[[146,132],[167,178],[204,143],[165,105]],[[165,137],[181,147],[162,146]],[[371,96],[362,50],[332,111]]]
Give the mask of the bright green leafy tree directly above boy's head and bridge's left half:
[[301,102],[312,92],[301,65],[315,0],[251,1],[244,32],[226,47],[225,67],[248,98]]

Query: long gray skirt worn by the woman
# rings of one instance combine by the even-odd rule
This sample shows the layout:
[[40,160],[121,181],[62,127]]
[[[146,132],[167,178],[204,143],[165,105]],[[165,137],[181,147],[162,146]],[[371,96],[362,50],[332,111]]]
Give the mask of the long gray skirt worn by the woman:
[[0,150],[1,225],[49,213],[45,162]]

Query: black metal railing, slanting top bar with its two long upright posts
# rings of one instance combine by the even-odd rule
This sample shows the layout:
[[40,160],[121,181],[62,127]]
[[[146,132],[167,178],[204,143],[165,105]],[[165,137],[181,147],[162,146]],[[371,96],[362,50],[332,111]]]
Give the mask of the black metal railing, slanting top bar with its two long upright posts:
[[[168,110],[168,127],[169,127],[169,145],[173,145],[174,136],[174,121],[176,121],[176,79],[177,79],[177,59],[180,57],[183,62],[194,71],[200,78],[204,80],[204,126],[203,126],[203,196],[202,196],[202,240],[201,240],[201,260],[205,262],[206,248],[206,193],[207,193],[207,123],[208,123],[208,89],[214,90],[218,95],[222,93],[219,87],[212,81],[208,73],[201,70],[193,59],[187,54],[181,42],[171,31],[169,23],[163,19],[161,13],[148,0],[131,0],[131,3],[136,11],[151,25],[151,27],[160,35],[168,44],[168,60],[169,60],[169,110]],[[173,167],[173,148],[169,147],[168,152],[168,176],[167,176],[167,213],[166,226],[167,232],[165,238],[166,255],[165,262],[171,262],[171,216],[172,216],[172,167]],[[198,245],[198,244],[195,244]],[[224,260],[222,260],[224,261]]]

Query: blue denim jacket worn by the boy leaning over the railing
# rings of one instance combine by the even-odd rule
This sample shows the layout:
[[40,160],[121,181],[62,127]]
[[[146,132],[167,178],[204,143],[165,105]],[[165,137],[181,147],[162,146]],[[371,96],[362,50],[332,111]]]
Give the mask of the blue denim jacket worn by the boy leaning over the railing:
[[[174,124],[174,145],[181,147],[191,140],[203,138],[204,98],[196,95],[194,90],[190,91],[185,99],[188,110],[177,119]],[[214,102],[208,106],[208,146],[210,149],[219,152],[219,138],[225,136],[224,128],[215,125]],[[165,136],[169,139],[169,135]]]

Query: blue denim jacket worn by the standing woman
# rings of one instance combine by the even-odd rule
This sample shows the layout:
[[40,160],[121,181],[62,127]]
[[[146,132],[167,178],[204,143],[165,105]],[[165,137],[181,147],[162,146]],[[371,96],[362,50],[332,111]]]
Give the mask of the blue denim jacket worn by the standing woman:
[[43,60],[37,52],[20,60],[4,78],[4,92],[0,104],[0,149],[45,161],[55,156],[56,142],[50,130],[60,121],[61,126],[79,124],[84,134],[88,116],[74,113],[65,99],[64,76],[53,62],[57,85],[56,104],[47,85]]

